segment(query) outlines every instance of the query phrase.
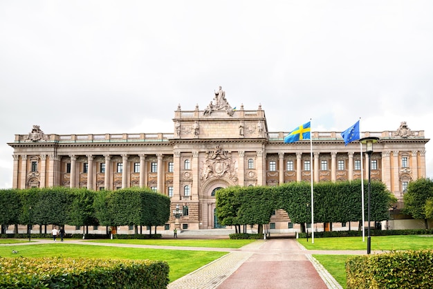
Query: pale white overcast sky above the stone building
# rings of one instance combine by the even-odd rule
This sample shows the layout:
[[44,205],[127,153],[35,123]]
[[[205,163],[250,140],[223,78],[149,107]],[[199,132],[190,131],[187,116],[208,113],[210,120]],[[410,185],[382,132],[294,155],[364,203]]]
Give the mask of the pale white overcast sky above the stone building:
[[[433,1],[0,1],[0,188],[15,134],[172,133],[230,105],[269,131],[433,137]],[[433,140],[426,145],[433,177]]]

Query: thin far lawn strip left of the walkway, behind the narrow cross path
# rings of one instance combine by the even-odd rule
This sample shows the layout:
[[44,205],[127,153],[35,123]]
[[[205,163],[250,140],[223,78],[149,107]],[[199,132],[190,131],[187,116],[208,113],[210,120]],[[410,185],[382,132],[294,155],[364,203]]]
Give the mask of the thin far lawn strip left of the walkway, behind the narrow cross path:
[[241,248],[256,240],[230,240],[230,239],[113,239],[113,240],[89,240],[94,243],[116,243],[133,245],[160,245],[160,246],[185,246],[203,248]]

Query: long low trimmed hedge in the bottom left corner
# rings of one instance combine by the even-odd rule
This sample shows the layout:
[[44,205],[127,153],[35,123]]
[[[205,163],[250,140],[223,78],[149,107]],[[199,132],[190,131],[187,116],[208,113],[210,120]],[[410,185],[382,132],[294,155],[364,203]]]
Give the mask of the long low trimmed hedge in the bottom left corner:
[[0,258],[0,288],[167,288],[165,261]]

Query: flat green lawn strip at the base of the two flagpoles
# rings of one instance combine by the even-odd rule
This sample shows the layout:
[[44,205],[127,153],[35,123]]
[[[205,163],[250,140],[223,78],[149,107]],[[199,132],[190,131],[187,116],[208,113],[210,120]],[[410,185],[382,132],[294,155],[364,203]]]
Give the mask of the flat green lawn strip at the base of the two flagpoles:
[[[367,252],[367,236],[297,239],[308,250],[365,250]],[[371,236],[371,250],[425,250],[433,249],[432,235],[409,236]]]

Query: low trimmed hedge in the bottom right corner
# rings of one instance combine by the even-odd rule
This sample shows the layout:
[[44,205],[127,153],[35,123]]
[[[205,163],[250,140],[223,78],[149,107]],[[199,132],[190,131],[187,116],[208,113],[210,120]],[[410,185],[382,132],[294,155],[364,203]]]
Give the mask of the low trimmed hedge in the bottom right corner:
[[347,259],[347,288],[433,288],[433,250]]

